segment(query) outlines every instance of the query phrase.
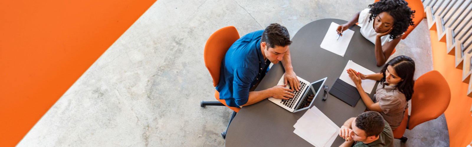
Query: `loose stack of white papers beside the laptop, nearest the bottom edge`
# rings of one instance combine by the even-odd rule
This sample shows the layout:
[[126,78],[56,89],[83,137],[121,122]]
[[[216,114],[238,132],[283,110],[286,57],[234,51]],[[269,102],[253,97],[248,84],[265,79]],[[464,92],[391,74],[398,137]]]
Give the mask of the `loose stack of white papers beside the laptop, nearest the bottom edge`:
[[339,127],[316,106],[308,109],[294,125],[294,133],[315,147],[331,147]]

